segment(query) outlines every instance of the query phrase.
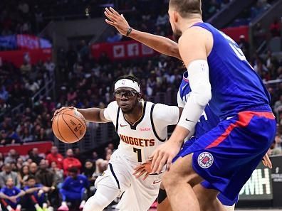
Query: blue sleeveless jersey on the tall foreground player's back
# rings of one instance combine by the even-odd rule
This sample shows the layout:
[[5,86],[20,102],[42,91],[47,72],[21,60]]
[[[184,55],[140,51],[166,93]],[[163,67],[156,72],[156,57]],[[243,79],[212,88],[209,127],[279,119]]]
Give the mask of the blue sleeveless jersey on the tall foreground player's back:
[[220,119],[226,119],[246,109],[269,104],[270,95],[266,87],[239,45],[209,23],[196,23],[194,26],[205,28],[214,38],[207,58],[212,112]]

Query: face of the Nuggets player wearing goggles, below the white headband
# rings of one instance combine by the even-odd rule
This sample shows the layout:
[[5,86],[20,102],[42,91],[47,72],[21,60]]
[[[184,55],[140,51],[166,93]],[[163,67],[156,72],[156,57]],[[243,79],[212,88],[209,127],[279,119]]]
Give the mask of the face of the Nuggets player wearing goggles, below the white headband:
[[115,100],[124,114],[132,112],[139,99],[140,94],[131,88],[122,87],[115,91]]

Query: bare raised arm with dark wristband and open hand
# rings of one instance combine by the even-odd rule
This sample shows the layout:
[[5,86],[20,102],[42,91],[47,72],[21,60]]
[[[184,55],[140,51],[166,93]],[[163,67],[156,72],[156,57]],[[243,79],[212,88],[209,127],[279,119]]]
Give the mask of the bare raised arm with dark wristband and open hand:
[[[130,26],[127,23],[125,17],[117,13],[117,11],[115,11],[115,9],[111,7],[110,9],[106,8],[104,13],[105,16],[109,18],[109,20],[105,20],[106,23],[110,24],[111,26],[115,26],[117,31],[119,31],[123,36],[127,36],[127,30],[128,28],[130,28]],[[181,60],[178,50],[178,44],[175,43],[173,40],[170,40],[169,38],[145,33],[142,31],[137,31],[135,29],[132,29],[128,37],[137,40],[138,42],[143,43],[144,45],[147,45],[148,47],[156,50],[157,52]]]

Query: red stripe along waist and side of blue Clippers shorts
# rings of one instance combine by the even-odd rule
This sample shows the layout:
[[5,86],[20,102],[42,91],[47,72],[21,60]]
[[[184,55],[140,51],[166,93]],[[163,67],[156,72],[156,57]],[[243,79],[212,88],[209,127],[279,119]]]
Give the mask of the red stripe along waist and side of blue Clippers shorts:
[[236,127],[246,127],[249,125],[251,119],[253,119],[254,116],[257,117],[265,117],[267,119],[275,119],[273,113],[271,112],[250,112],[250,111],[246,111],[246,112],[240,112],[239,114],[239,119],[235,122],[230,124],[227,129],[224,131],[223,134],[221,134],[221,136],[219,136],[219,138],[217,138],[215,141],[213,141],[211,144],[209,144],[209,146],[207,146],[206,148],[211,148],[214,146],[218,146],[222,141],[224,141],[227,136],[229,136],[229,134],[231,133],[231,131],[234,130],[234,128]]

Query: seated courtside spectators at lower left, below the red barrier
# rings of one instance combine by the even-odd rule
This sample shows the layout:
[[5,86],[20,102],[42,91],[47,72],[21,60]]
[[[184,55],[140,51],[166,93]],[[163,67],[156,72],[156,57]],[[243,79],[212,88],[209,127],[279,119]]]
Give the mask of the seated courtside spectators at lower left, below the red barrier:
[[26,156],[14,149],[7,155],[0,153],[0,210],[82,210],[85,200],[95,193],[95,180],[108,168],[113,151],[113,144],[108,144],[102,156],[93,151],[87,159],[78,148],[68,149],[63,156],[56,146],[47,154],[39,153],[38,148]]

